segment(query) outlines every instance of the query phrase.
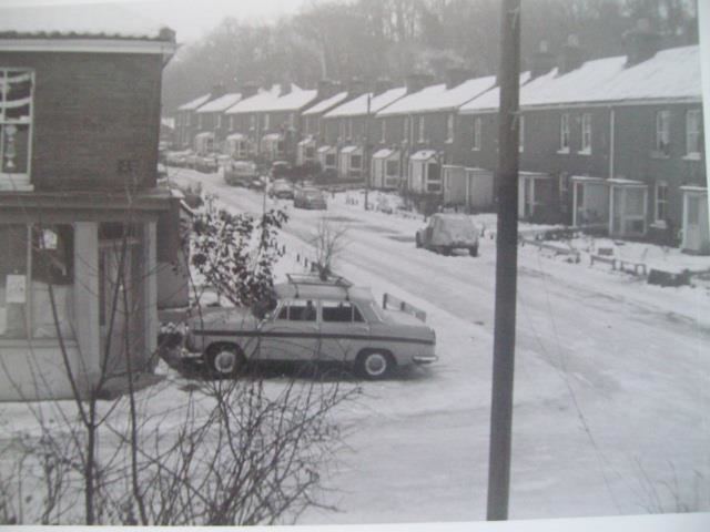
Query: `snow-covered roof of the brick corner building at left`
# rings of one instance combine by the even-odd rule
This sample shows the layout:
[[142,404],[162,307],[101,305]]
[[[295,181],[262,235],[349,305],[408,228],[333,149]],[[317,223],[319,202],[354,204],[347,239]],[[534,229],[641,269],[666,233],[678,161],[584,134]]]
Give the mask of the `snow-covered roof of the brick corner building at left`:
[[174,42],[164,24],[115,3],[0,8],[0,38],[77,38]]

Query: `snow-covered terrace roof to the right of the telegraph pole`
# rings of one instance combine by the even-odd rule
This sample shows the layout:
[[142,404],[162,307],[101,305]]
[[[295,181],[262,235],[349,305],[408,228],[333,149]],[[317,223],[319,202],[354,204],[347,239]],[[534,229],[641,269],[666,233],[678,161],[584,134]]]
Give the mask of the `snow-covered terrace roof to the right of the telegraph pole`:
[[699,100],[699,47],[661,50],[647,61],[626,66],[625,55],[587,61],[580,68],[537,78],[520,89],[520,106]]

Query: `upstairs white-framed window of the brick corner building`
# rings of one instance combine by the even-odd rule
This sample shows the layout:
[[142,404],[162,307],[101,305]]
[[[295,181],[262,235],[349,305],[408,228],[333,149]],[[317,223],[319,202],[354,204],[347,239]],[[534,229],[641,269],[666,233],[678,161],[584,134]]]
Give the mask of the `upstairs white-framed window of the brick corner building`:
[[0,69],[0,188],[30,184],[34,73]]

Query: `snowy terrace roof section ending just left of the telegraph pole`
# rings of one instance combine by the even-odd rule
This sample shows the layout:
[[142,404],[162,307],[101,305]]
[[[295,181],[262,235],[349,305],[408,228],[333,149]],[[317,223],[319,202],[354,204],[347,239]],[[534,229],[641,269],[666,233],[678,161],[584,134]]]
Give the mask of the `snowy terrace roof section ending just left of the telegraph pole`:
[[489,90],[495,84],[496,76],[486,75],[484,78],[467,80],[450,89],[446,88],[446,83],[425,86],[420,91],[408,94],[402,100],[393,103],[384,111],[377,113],[377,115],[390,116],[395,114],[425,113],[457,109],[469,100]]

